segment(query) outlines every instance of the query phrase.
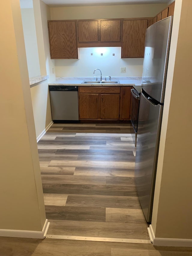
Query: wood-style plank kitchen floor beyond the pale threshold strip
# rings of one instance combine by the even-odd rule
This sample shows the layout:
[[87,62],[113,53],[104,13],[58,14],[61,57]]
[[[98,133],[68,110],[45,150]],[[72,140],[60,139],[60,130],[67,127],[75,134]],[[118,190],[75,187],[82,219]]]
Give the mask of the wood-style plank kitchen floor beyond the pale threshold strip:
[[48,235],[149,240],[130,124],[53,124],[38,151]]

